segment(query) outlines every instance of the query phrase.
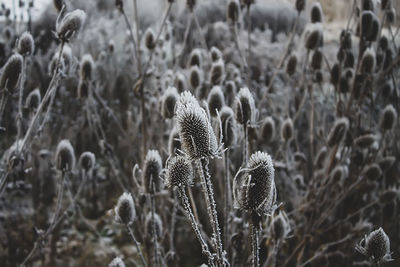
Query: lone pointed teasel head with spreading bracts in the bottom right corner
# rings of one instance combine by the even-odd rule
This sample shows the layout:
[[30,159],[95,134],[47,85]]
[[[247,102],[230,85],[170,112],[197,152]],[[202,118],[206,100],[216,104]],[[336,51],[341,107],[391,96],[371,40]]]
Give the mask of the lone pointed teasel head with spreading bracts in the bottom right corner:
[[375,263],[392,261],[390,240],[382,228],[365,236],[356,249]]

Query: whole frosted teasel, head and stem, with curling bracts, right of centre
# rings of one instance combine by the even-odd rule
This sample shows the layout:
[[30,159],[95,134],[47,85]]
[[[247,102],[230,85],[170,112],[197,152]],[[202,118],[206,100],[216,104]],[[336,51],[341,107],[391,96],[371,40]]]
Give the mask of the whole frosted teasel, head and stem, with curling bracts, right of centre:
[[259,234],[262,216],[271,215],[277,208],[275,169],[271,156],[257,151],[249,164],[239,169],[234,178],[235,207],[248,213],[251,220],[252,266],[259,266]]

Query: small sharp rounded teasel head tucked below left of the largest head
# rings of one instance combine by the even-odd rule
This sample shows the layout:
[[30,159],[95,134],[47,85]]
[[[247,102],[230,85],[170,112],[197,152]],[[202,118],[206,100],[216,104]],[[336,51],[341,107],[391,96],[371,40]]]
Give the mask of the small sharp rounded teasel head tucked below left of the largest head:
[[183,156],[176,156],[168,161],[166,172],[167,187],[189,186],[193,181],[193,168]]

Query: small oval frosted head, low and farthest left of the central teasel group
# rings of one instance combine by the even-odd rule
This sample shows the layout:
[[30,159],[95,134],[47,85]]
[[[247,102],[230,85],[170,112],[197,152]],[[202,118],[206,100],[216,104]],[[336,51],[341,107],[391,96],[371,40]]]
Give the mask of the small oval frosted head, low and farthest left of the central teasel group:
[[115,220],[118,223],[130,225],[136,218],[135,204],[131,193],[124,192],[114,208]]

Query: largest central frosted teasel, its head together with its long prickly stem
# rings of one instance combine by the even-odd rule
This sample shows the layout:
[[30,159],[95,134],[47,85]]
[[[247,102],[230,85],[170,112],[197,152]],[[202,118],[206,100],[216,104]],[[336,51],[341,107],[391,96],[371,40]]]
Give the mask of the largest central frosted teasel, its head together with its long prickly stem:
[[217,252],[217,265],[225,266],[227,260],[222,247],[217,208],[208,168],[209,158],[218,157],[222,147],[217,143],[206,111],[200,107],[190,92],[186,91],[181,94],[175,114],[183,152],[189,160],[195,162],[201,178],[207,212],[213,229],[213,245]]

